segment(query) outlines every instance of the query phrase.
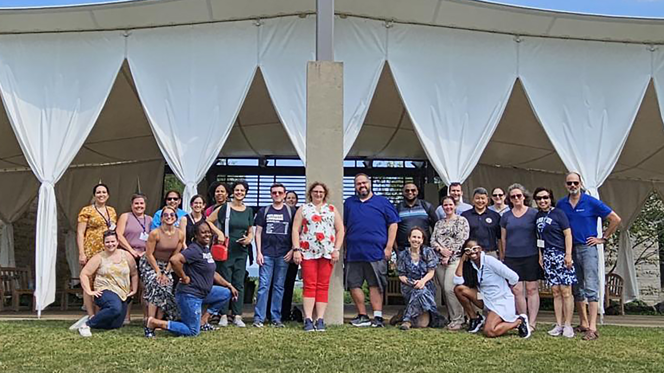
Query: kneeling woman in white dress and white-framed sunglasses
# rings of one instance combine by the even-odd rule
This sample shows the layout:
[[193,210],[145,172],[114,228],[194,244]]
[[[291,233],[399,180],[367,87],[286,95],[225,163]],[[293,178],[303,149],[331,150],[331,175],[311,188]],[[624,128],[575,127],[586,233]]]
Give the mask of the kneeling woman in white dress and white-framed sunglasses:
[[[471,266],[463,265],[466,261],[469,261]],[[484,324],[484,335],[501,336],[516,328],[522,338],[531,336],[528,316],[517,316],[515,312],[511,287],[518,282],[519,275],[501,261],[484,254],[477,241],[469,239],[463,244],[463,256],[454,276],[454,283],[457,285],[454,293],[463,305],[466,315],[471,318],[470,326],[474,326],[477,329],[475,331],[479,330],[483,320],[481,315],[473,319],[473,304],[479,309],[486,306],[489,310]]]

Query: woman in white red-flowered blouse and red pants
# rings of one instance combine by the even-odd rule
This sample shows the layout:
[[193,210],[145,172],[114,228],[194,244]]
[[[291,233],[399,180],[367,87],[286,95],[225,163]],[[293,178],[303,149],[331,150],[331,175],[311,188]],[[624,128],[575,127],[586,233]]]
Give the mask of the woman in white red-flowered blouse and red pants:
[[328,196],[327,186],[315,181],[307,190],[307,204],[297,209],[293,219],[293,261],[302,265],[305,331],[325,331],[330,275],[343,244],[343,220],[335,206],[327,204]]

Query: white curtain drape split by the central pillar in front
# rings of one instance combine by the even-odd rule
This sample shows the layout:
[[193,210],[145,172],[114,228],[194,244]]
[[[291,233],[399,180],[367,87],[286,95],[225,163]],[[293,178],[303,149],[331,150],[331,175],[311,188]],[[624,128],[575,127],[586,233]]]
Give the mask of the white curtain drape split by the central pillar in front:
[[[259,66],[286,132],[305,160],[307,62],[315,60],[315,18],[266,19],[260,27]],[[385,61],[380,21],[335,19],[335,60],[343,64],[344,155],[364,123]]]

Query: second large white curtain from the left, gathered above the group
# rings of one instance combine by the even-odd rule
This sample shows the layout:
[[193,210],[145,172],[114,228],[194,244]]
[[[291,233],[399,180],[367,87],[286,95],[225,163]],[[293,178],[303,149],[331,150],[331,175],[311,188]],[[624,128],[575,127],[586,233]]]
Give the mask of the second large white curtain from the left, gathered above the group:
[[131,75],[183,208],[221,151],[256,71],[251,21],[132,31]]

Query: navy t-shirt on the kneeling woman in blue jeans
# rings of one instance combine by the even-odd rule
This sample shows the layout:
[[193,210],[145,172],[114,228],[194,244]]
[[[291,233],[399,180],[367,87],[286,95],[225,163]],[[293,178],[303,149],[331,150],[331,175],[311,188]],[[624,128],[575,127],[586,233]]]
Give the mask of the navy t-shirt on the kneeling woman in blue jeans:
[[207,246],[204,248],[198,242],[192,242],[180,253],[187,261],[183,265],[183,269],[191,282],[185,285],[180,281],[177,284],[177,291],[199,298],[207,297],[214,284],[214,270],[216,269],[210,248]]

